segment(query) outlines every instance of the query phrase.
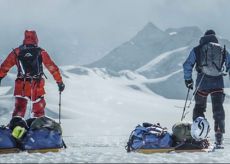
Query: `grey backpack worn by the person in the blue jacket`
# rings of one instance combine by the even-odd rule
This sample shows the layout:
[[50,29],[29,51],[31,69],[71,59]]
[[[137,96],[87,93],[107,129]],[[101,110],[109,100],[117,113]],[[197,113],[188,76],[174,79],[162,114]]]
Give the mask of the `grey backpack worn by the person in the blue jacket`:
[[196,69],[199,73],[209,76],[220,76],[223,71],[223,63],[226,56],[225,47],[220,44],[209,42],[195,48]]

